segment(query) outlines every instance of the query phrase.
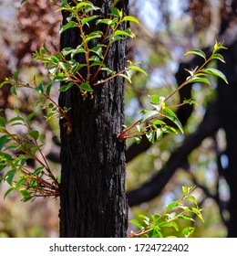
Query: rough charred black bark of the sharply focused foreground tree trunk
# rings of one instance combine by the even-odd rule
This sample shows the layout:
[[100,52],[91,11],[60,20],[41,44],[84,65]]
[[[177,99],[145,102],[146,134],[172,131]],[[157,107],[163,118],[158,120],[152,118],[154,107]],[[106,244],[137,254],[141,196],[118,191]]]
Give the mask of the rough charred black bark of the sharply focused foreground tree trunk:
[[[113,1],[92,2],[105,15]],[[120,7],[128,13],[127,0]],[[63,18],[65,22],[66,13]],[[89,29],[93,31],[94,26]],[[79,38],[77,29],[68,29],[61,36],[61,48],[76,48]],[[126,55],[127,41],[118,41],[108,52],[108,68],[123,69]],[[72,119],[70,134],[65,121],[60,123],[61,237],[126,236],[125,144],[118,141],[124,123],[124,84],[116,78],[99,85],[94,88],[93,100],[84,101],[77,87],[60,95],[59,104],[71,108]]]

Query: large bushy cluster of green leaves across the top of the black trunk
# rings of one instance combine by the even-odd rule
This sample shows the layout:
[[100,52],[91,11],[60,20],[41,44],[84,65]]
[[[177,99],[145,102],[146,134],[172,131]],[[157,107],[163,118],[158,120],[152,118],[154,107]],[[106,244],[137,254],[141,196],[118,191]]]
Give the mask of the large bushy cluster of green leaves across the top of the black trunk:
[[[128,67],[119,71],[108,69],[105,64],[108,50],[113,43],[123,40],[125,37],[135,37],[130,28],[119,29],[121,24],[135,22],[139,25],[138,19],[133,16],[124,16],[123,12],[115,7],[112,7],[107,18],[100,18],[99,15],[94,14],[98,13],[100,8],[89,1],[79,0],[77,5],[68,5],[66,2],[64,1],[63,6],[58,9],[58,11],[67,11],[70,14],[67,17],[67,24],[61,27],[60,33],[70,28],[77,28],[81,43],[77,48],[64,48],[56,55],[52,55],[46,48],[36,52],[34,60],[45,63],[52,78],[51,82],[46,85],[46,91],[50,91],[53,82],[63,81],[67,84],[61,86],[60,91],[67,91],[76,85],[84,98],[87,98],[88,94],[92,98],[93,87],[107,80],[122,76],[130,81],[134,69],[146,74],[143,69],[136,66],[138,63],[130,61]],[[98,29],[87,33],[91,22],[94,22]],[[101,25],[107,26],[107,29],[99,30]],[[82,63],[77,59],[81,59]],[[84,71],[81,72],[83,68]],[[101,72],[106,73],[104,80],[98,80],[98,77],[101,77],[99,76]],[[83,75],[85,73],[86,75]]]

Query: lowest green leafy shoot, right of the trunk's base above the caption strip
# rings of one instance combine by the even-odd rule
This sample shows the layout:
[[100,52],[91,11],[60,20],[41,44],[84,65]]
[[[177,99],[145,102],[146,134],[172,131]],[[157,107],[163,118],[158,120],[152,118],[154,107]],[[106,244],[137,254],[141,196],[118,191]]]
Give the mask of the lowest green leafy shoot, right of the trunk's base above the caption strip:
[[[199,208],[196,198],[190,195],[194,188],[195,187],[182,187],[182,197],[180,197],[179,200],[170,203],[162,214],[151,215],[151,218],[139,215],[141,221],[137,219],[130,220],[129,222],[137,226],[139,231],[131,231],[129,233],[129,238],[163,238],[165,237],[167,228],[180,231],[178,223],[179,219],[194,222],[195,220],[190,214],[197,216],[204,222],[204,219],[201,216],[201,208]],[[187,200],[192,201],[194,207],[187,206]],[[194,227],[185,227],[181,230],[181,235],[187,238],[194,230]]]

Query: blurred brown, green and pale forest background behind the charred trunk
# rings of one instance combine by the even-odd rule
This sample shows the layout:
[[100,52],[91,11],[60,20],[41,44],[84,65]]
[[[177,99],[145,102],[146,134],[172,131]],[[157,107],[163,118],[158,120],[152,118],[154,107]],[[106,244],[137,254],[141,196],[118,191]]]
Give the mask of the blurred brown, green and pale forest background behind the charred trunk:
[[[46,0],[0,1],[0,82],[21,69],[21,80],[47,80],[46,71],[31,62],[32,53],[46,44],[59,49],[61,15]],[[226,64],[218,69],[230,85],[211,80],[211,86],[195,83],[180,91],[171,101],[193,98],[198,107],[177,110],[185,135],[166,135],[160,142],[146,139],[127,145],[127,190],[131,218],[154,214],[180,197],[182,186],[196,185],[195,197],[203,208],[204,223],[193,224],[195,237],[237,237],[237,1],[236,0],[130,0],[130,14],[141,27],[129,44],[128,59],[141,62],[149,78],[135,74],[126,89],[126,124],[139,119],[139,110],[149,108],[148,94],[167,96],[186,79],[187,68],[201,59],[184,57],[191,48],[207,54],[215,40],[224,40]],[[55,88],[55,99],[58,97]],[[36,96],[10,87],[0,91],[0,108],[7,118],[14,106],[29,113],[37,108]],[[36,118],[44,152],[60,175],[58,121]],[[24,133],[24,131],[17,131]],[[34,165],[34,163],[29,163]],[[58,237],[58,200],[36,199],[22,203],[18,194],[4,199],[7,186],[0,184],[0,237]],[[235,202],[236,201],[236,202]],[[182,225],[182,224],[180,224]],[[235,230],[236,229],[236,230]]]

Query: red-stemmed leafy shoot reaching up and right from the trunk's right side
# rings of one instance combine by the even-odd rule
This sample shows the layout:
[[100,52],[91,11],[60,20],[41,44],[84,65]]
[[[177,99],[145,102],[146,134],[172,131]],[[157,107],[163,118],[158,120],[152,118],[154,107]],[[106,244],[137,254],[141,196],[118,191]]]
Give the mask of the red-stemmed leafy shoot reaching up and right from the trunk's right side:
[[184,100],[179,105],[170,105],[167,106],[166,101],[168,101],[177,91],[189,83],[199,82],[199,83],[206,83],[211,84],[210,80],[208,79],[209,75],[212,75],[217,78],[221,78],[226,83],[225,75],[218,69],[209,68],[207,67],[212,59],[221,60],[224,62],[224,59],[219,50],[226,49],[223,47],[222,43],[216,42],[214,48],[211,53],[211,57],[207,58],[205,53],[201,49],[192,49],[188,51],[185,55],[188,54],[195,54],[200,56],[204,59],[203,64],[201,67],[196,67],[195,69],[191,69],[187,71],[189,72],[190,76],[185,80],[175,91],[171,92],[168,97],[158,96],[158,95],[151,95],[149,96],[152,106],[152,110],[142,110],[143,113],[140,120],[136,123],[133,123],[128,128],[126,127],[124,131],[118,134],[119,139],[128,139],[128,138],[135,138],[136,142],[139,142],[142,139],[143,135],[146,135],[150,143],[154,143],[155,140],[160,141],[162,138],[163,133],[178,133],[177,130],[165,123],[164,119],[169,119],[172,123],[174,123],[179,129],[180,132],[183,133],[182,125],[180,120],[178,119],[177,115],[171,110],[174,107],[180,107],[184,104],[197,104],[193,100]]

